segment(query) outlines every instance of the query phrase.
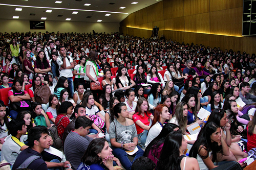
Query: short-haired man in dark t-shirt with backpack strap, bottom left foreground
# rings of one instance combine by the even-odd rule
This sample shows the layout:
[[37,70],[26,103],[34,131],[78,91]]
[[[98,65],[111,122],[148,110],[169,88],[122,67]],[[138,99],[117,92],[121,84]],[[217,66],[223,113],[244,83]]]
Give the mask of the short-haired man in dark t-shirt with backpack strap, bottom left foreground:
[[27,166],[28,169],[47,170],[47,168],[51,167],[69,167],[69,161],[57,163],[45,162],[42,159],[41,152],[50,148],[51,140],[52,138],[49,136],[49,132],[45,126],[35,126],[31,128],[28,132],[29,148],[25,149],[18,155],[12,169],[18,168],[26,159],[34,155],[38,157]]

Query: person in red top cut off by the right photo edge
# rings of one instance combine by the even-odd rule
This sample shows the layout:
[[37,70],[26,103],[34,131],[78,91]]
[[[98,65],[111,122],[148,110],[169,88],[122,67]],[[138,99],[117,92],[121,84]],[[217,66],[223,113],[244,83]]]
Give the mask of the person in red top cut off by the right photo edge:
[[253,116],[252,120],[248,123],[247,126],[247,151],[250,151],[252,148],[256,148],[256,116]]

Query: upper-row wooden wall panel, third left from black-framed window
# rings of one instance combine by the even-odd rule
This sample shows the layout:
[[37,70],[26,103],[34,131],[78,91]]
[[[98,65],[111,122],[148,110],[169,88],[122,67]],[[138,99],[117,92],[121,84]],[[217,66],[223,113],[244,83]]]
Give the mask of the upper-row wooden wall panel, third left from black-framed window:
[[184,16],[184,0],[163,1],[164,19]]

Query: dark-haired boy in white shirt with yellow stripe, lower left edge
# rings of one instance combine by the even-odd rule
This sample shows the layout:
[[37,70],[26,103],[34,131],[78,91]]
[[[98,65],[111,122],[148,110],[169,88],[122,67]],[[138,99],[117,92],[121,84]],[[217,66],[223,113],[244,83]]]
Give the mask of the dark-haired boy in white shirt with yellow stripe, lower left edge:
[[1,161],[5,160],[13,164],[23,150],[28,146],[24,144],[27,140],[27,126],[23,119],[13,119],[8,123],[7,129],[10,135],[6,137],[2,146]]

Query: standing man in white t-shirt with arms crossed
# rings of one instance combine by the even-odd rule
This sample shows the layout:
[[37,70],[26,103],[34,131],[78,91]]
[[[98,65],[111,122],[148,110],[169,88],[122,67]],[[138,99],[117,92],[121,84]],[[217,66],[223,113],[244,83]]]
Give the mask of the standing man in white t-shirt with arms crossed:
[[59,46],[60,56],[57,57],[57,64],[59,65],[59,77],[63,76],[68,78],[70,97],[73,98],[74,94],[74,83],[73,83],[73,72],[74,63],[72,57],[68,57],[64,46]]

